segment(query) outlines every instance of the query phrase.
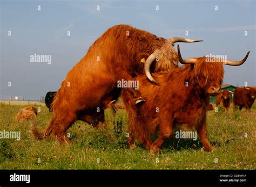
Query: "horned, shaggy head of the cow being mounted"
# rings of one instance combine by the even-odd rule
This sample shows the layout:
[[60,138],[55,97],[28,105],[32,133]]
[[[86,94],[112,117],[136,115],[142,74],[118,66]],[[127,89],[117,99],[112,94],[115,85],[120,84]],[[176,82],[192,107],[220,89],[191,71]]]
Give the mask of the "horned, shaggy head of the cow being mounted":
[[240,66],[246,61],[249,53],[250,52],[248,52],[241,61],[216,59],[205,56],[183,59],[178,45],[179,62],[182,64],[190,64],[191,76],[193,77],[194,83],[199,84],[199,87],[205,89],[206,93],[210,95],[217,95],[221,92],[220,85],[224,77],[223,64]]

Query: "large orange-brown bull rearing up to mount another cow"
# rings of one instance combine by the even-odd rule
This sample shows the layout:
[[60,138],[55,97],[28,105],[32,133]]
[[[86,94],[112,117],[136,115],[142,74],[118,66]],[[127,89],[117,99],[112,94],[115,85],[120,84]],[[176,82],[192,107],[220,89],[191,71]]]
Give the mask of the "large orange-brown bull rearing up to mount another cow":
[[[142,75],[144,68],[154,81],[149,69],[159,72],[178,67],[175,42],[198,41],[202,40],[179,37],[166,40],[129,25],[109,28],[66,75],[53,100],[53,115],[48,127],[38,132],[32,125],[33,136],[44,139],[51,135],[59,142],[68,143],[65,132],[76,120],[104,123],[104,109],[120,95],[119,81]],[[127,89],[131,89],[137,102],[139,92]]]

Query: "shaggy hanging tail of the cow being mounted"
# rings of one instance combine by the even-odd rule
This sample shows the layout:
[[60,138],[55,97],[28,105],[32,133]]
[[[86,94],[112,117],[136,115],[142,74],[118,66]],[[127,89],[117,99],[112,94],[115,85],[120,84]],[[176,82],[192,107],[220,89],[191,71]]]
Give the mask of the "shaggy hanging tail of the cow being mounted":
[[149,133],[144,119],[139,114],[140,107],[134,103],[134,98],[129,91],[123,90],[122,98],[129,121],[128,131],[131,131],[138,142],[145,143]]

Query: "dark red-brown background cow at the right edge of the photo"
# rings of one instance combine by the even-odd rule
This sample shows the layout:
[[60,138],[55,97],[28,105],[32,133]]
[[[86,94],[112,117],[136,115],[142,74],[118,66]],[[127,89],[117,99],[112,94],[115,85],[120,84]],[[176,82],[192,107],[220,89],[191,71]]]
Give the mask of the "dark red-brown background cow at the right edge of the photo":
[[256,89],[250,87],[237,88],[234,91],[233,105],[234,110],[239,106],[239,110],[245,106],[245,110],[251,110],[256,95]]

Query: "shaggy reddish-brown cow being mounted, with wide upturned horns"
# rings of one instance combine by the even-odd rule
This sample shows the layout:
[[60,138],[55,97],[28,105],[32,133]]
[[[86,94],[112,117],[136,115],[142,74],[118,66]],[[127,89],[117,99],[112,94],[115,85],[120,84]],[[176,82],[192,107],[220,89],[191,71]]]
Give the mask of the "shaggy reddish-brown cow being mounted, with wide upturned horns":
[[[182,59],[178,45],[179,61],[184,66],[171,72],[155,73],[153,76],[160,85],[147,81],[146,76],[137,76],[139,91],[146,102],[134,104],[129,91],[123,91],[123,101],[129,119],[127,139],[134,147],[133,138],[143,143],[149,153],[160,152],[164,140],[172,134],[172,128],[179,124],[196,127],[204,149],[212,151],[206,134],[206,111],[210,95],[220,93],[223,82],[223,60],[212,57]],[[225,64],[239,66],[247,59],[249,52],[241,61],[226,60]],[[217,61],[217,62],[216,62]],[[160,134],[153,143],[149,134]]]

